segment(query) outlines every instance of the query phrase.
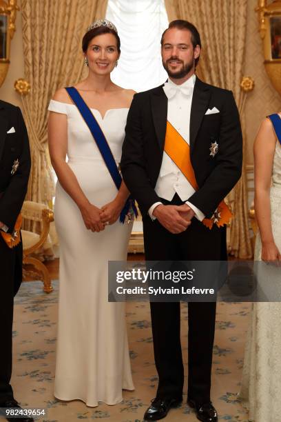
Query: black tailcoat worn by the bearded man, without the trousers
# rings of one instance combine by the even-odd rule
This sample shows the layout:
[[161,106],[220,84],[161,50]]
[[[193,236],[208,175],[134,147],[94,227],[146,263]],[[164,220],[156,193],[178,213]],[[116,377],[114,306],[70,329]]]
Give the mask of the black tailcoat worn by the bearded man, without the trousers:
[[[167,97],[163,86],[135,94],[129,109],[121,170],[127,188],[143,216],[160,201],[154,191],[162,163],[167,125]],[[217,114],[205,114],[216,107]],[[213,158],[209,148],[218,143]],[[206,217],[236,184],[242,170],[242,134],[231,91],[196,78],[191,103],[190,153],[199,189],[189,201]]]

